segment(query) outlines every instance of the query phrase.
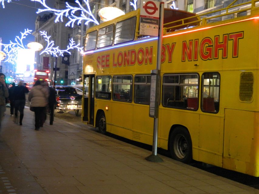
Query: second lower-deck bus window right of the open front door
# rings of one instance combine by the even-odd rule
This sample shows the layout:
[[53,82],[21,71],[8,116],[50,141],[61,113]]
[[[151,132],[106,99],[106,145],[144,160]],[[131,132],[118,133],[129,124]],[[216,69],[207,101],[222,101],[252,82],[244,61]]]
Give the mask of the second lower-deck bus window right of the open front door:
[[132,102],[132,76],[113,76],[113,100]]

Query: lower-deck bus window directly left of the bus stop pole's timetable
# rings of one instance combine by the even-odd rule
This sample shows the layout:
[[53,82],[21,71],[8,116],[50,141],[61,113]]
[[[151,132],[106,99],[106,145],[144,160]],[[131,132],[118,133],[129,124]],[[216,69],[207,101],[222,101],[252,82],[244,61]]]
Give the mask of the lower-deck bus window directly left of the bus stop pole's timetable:
[[134,102],[138,104],[150,103],[150,75],[136,75],[134,82]]

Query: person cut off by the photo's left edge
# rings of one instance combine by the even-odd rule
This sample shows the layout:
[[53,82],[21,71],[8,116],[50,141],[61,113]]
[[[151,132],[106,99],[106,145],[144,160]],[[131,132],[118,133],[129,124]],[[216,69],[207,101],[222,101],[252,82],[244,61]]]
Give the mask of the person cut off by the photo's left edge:
[[0,73],[0,127],[3,116],[5,115],[5,99],[9,96],[8,86],[5,82],[5,74]]

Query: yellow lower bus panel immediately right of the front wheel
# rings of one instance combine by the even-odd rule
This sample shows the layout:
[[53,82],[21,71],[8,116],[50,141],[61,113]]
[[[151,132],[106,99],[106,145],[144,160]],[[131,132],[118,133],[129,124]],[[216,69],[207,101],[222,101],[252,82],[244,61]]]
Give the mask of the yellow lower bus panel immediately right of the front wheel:
[[132,103],[114,101],[111,111],[111,132],[121,137],[132,139],[132,118]]

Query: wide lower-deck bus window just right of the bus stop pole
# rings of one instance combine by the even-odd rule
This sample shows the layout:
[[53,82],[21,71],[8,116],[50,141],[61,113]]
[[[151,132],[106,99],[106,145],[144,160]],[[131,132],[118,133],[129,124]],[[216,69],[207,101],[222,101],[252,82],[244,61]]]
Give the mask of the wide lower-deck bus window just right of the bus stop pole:
[[164,75],[162,105],[165,107],[197,110],[199,84],[197,74]]

